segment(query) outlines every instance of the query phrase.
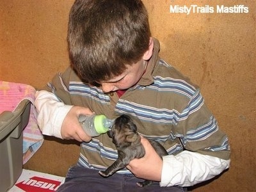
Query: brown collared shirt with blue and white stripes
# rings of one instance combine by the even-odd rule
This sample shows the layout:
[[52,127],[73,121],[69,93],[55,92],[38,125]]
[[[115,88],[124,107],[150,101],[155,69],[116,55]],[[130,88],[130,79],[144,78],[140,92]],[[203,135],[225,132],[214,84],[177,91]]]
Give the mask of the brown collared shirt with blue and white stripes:
[[[121,114],[130,115],[138,132],[159,141],[168,154],[189,150],[228,159],[227,135],[218,127],[199,88],[161,60],[158,49],[159,44],[155,42],[145,74],[121,97],[81,82],[72,68],[54,77],[51,86],[65,104],[86,106],[112,119]],[[78,164],[105,170],[117,157],[111,138],[101,134],[89,143],[81,143]],[[125,168],[119,172],[130,173]]]

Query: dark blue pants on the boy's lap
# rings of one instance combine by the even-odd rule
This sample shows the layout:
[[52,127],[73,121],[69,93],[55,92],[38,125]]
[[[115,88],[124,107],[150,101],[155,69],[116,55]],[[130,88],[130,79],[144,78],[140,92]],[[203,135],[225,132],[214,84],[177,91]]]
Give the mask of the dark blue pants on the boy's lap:
[[143,181],[134,175],[115,173],[109,177],[102,177],[98,170],[72,166],[67,173],[65,182],[57,191],[186,191],[179,186],[161,188],[159,182],[141,188],[136,182]]

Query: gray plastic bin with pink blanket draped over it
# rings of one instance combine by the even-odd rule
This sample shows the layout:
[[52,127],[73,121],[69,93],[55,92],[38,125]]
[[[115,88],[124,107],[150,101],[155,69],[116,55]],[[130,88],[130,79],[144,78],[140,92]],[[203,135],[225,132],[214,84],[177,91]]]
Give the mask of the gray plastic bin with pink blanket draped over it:
[[28,125],[30,101],[0,114],[0,191],[12,188],[22,172],[22,131]]

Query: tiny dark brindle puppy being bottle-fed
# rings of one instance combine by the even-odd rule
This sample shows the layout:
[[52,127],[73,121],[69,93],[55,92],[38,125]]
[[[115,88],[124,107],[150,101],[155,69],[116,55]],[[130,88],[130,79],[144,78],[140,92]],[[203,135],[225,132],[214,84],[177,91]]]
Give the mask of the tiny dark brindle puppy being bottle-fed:
[[[115,120],[115,124],[108,131],[108,136],[112,138],[118,152],[118,159],[111,164],[105,171],[100,171],[103,177],[109,177],[121,168],[125,168],[127,164],[134,158],[141,158],[145,155],[145,149],[140,141],[136,125],[132,122],[131,118],[127,115],[121,115]],[[165,148],[157,141],[148,140],[154,147],[160,157],[168,155]],[[140,187],[149,186],[152,184],[151,180],[138,182]]]

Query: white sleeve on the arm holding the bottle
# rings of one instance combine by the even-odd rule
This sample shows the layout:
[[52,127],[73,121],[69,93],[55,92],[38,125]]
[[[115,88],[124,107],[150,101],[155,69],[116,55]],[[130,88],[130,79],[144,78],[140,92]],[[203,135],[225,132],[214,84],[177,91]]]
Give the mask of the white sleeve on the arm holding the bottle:
[[61,125],[72,106],[65,105],[54,93],[42,90],[36,92],[35,107],[36,119],[42,133],[62,138]]

